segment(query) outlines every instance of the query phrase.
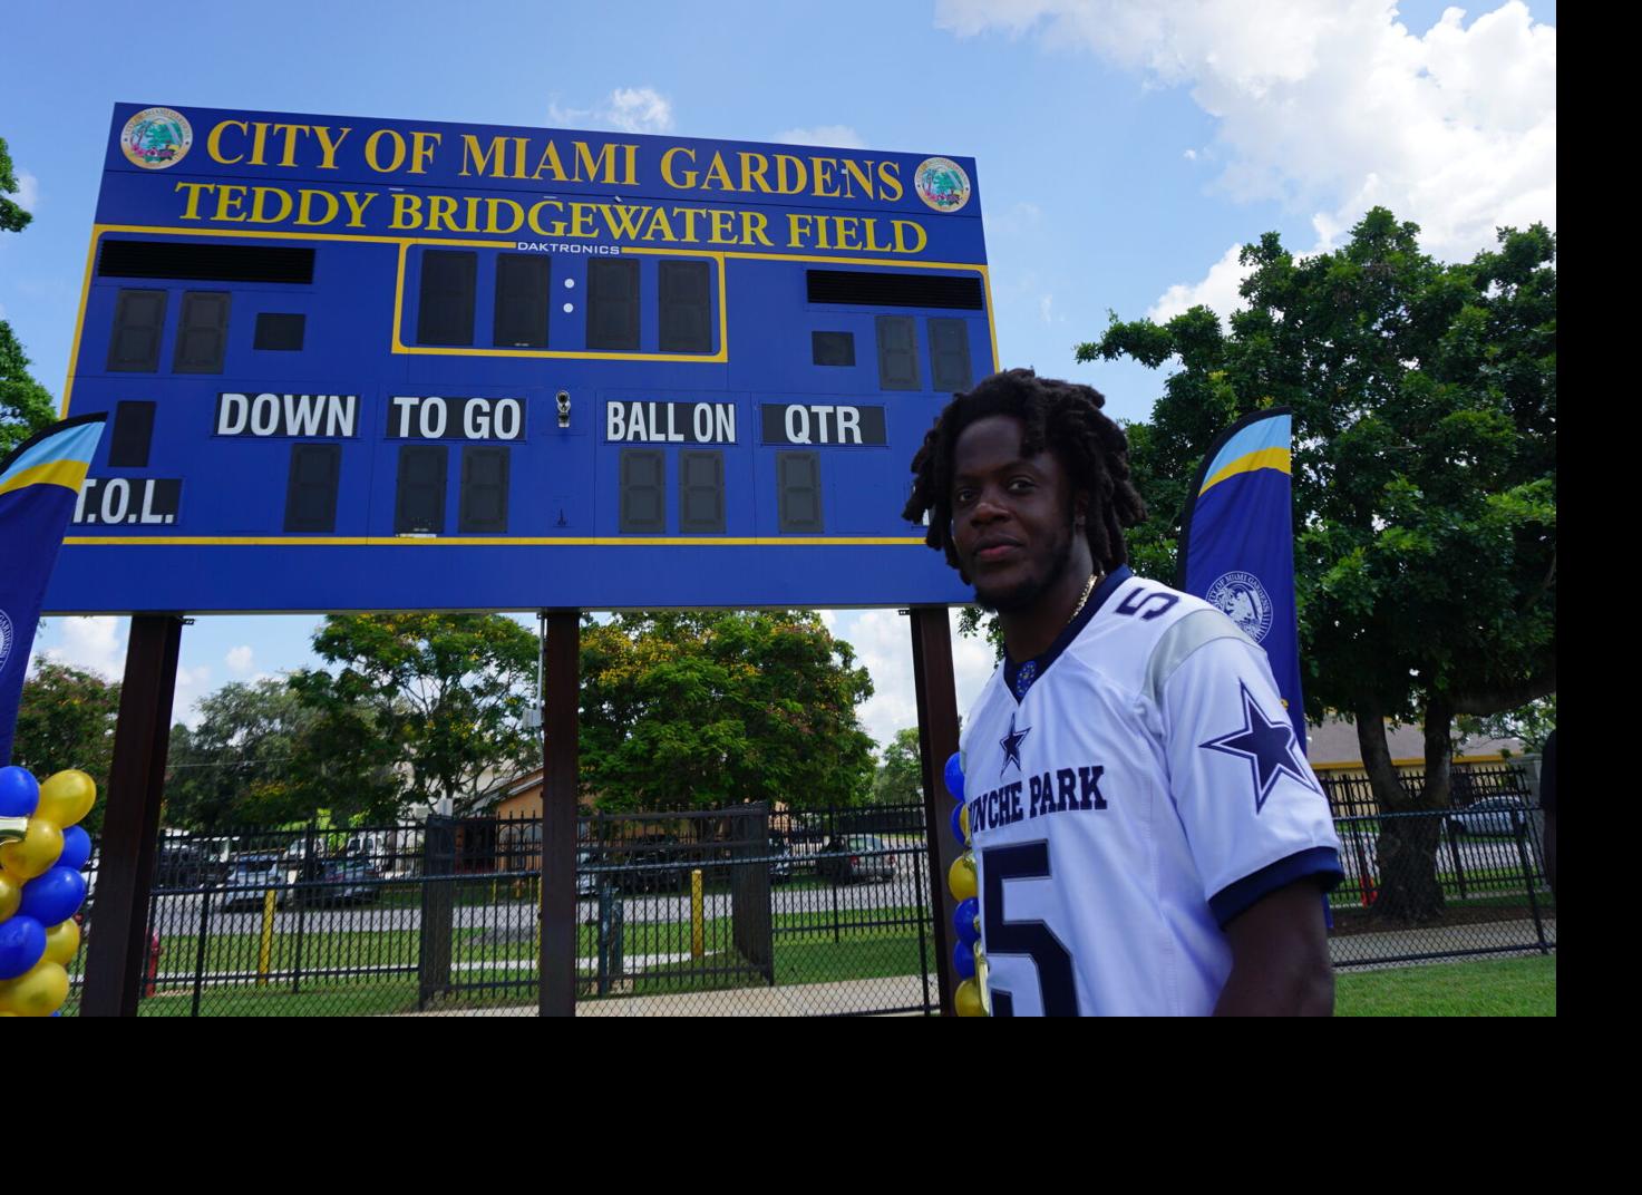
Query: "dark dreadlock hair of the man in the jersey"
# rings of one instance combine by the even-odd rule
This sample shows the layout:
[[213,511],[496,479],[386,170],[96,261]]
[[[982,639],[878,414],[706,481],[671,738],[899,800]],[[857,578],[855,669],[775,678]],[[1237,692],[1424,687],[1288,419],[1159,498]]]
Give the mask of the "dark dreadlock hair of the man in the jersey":
[[[1123,529],[1146,519],[1146,504],[1130,481],[1128,437],[1100,409],[1107,399],[1092,386],[1039,378],[1031,369],[1007,369],[965,394],[952,396],[913,456],[913,494],[901,515],[921,522],[929,514],[924,543],[946,553],[964,576],[952,543],[952,453],[964,428],[988,415],[1021,422],[1021,453],[1053,448],[1074,489],[1089,491],[1084,532],[1102,573],[1128,563]],[[964,576],[967,583],[969,578]]]

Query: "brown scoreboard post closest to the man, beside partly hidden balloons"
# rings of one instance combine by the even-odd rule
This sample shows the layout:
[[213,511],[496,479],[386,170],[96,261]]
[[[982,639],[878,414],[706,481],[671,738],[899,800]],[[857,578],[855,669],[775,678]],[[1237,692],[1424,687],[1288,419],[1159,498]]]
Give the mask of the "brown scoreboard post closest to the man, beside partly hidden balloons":
[[946,606],[913,607],[913,684],[918,689],[918,750],[924,781],[924,837],[929,849],[929,885],[934,918],[934,949],[941,980],[941,1014],[952,1016],[952,991],[959,977],[952,970],[952,913],[957,901],[946,886],[952,860],[962,854],[952,837],[952,798],[943,771],[957,750],[957,681],[952,676],[952,629]]

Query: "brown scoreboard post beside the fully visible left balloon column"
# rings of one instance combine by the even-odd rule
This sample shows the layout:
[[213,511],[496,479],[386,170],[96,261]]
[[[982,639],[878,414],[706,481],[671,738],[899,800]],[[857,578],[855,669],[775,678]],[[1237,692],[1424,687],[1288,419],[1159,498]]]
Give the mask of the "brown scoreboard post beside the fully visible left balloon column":
[[181,617],[138,614],[131,619],[80,1016],[136,1016],[181,645]]

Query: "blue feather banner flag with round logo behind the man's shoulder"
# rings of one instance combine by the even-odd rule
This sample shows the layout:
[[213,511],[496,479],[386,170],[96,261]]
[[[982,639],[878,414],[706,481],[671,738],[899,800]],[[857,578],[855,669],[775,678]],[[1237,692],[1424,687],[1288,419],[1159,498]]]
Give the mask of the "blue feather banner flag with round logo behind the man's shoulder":
[[1218,606],[1266,648],[1304,752],[1291,443],[1287,407],[1245,415],[1220,433],[1186,501],[1176,588]]

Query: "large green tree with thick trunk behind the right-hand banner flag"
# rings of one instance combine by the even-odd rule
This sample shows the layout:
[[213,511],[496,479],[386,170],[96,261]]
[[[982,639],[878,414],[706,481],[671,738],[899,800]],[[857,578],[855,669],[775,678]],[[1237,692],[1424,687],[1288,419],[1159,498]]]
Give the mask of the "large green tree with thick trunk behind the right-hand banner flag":
[[[1172,565],[1186,479],[1238,415],[1294,409],[1296,589],[1307,714],[1348,711],[1381,808],[1442,809],[1450,727],[1555,689],[1557,271],[1542,225],[1470,263],[1422,253],[1371,210],[1350,243],[1294,258],[1243,248],[1246,310],[1120,322],[1082,361],[1179,358],[1131,435]],[[1167,575],[1167,568],[1161,568]],[[1425,781],[1391,767],[1386,719],[1425,727]],[[1376,909],[1442,911],[1435,821],[1386,822]]]

